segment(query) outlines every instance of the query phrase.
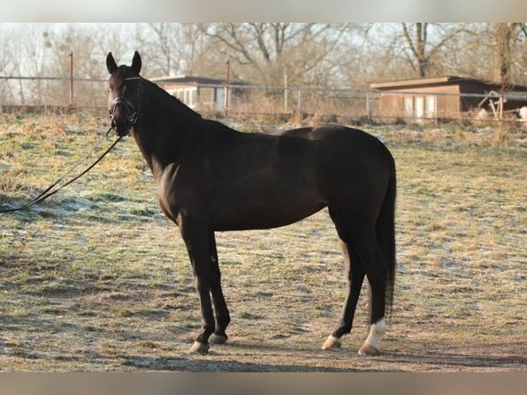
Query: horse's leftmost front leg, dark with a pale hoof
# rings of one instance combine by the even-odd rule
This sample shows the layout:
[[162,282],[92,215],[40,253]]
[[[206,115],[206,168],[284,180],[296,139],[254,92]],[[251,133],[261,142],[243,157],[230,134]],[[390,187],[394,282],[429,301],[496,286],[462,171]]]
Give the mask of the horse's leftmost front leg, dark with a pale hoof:
[[190,352],[207,354],[208,338],[214,332],[214,314],[211,303],[211,256],[208,248],[208,229],[202,222],[192,218],[181,218],[181,235],[189,252],[192,270],[196,280],[197,295],[202,310],[202,332],[198,335]]

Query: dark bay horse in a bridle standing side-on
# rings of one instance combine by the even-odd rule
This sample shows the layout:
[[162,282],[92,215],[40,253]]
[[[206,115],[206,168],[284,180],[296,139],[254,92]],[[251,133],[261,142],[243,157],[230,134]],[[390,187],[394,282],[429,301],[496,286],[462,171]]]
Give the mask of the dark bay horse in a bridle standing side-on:
[[[377,354],[391,306],[396,264],[394,159],[380,140],[343,126],[275,134],[241,133],[202,118],[164,89],[108,54],[109,113],[118,136],[131,133],[153,173],[162,211],[180,228],[203,317],[191,352],[227,340],[215,231],[274,228],[327,206],[347,273],[341,318],[323,344],[341,345],[352,330],[364,277],[371,289],[371,327],[358,351]],[[211,300],[212,296],[212,300]]]

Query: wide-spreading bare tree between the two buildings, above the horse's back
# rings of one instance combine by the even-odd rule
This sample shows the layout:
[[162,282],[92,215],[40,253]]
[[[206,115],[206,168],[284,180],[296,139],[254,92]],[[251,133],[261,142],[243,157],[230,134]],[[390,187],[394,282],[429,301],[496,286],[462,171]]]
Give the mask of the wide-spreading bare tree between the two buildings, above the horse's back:
[[[332,57],[352,24],[210,23],[201,26],[224,59],[235,61],[257,83],[313,85],[332,74]],[[324,78],[322,78],[324,77]]]

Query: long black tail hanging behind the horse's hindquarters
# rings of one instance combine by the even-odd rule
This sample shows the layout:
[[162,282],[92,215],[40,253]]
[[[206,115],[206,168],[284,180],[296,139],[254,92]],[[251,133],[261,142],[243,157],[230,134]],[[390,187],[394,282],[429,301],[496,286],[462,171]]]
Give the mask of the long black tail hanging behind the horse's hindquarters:
[[396,167],[394,158],[386,149],[389,156],[390,178],[383,206],[380,209],[376,224],[377,240],[380,251],[387,263],[386,281],[386,315],[391,314],[394,301],[395,272],[396,272],[396,240],[395,240],[395,209],[396,209]]

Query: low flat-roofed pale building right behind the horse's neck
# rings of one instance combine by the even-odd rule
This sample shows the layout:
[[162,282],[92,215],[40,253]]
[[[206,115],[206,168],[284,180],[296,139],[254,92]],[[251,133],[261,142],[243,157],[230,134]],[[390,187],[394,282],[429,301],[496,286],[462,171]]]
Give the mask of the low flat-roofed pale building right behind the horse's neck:
[[[239,96],[240,89],[229,86],[226,81],[217,78],[207,78],[200,76],[173,76],[152,78],[152,82],[169,92],[169,94],[179,98],[191,109],[212,109],[222,111],[234,96]],[[241,81],[232,81],[232,85],[246,85]],[[228,103],[225,95],[227,94]]]

